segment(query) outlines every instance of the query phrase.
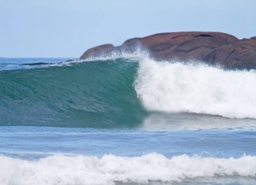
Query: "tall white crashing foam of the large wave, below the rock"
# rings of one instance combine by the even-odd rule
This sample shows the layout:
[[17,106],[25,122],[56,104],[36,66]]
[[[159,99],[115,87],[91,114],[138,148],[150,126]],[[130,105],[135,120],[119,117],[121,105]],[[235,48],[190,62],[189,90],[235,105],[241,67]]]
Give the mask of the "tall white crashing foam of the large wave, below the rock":
[[256,118],[256,73],[149,59],[140,62],[135,90],[146,109]]

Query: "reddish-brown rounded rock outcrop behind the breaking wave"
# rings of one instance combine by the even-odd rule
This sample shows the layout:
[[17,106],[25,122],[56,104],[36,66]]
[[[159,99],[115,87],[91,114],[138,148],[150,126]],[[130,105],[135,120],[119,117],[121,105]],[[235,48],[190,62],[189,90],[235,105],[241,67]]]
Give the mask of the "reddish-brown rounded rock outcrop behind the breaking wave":
[[133,53],[140,48],[155,60],[202,61],[231,69],[256,68],[256,37],[237,39],[221,32],[172,32],[126,40],[121,46],[105,44],[93,47],[80,59]]

